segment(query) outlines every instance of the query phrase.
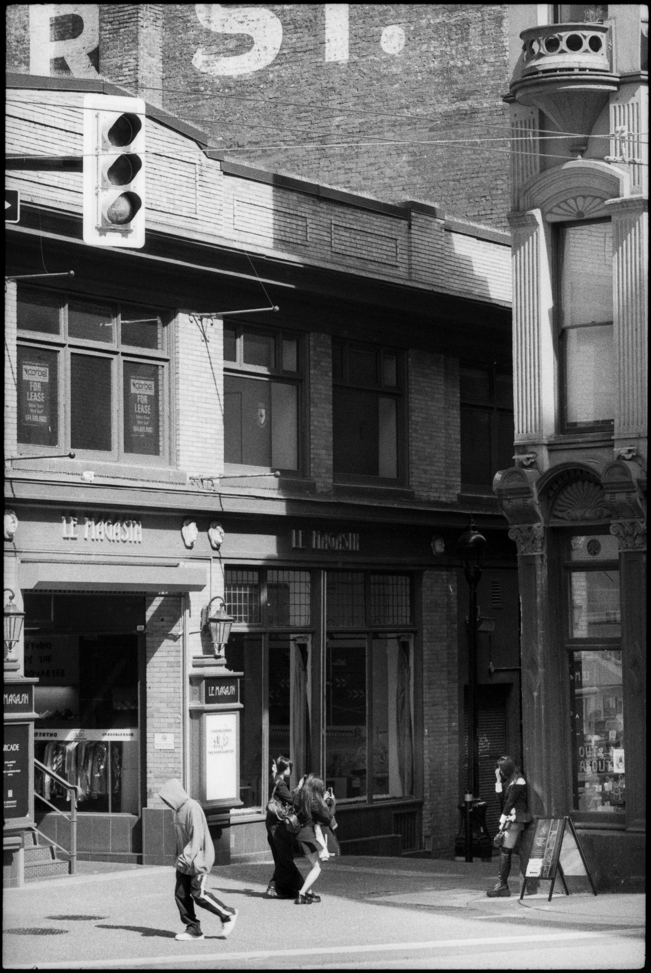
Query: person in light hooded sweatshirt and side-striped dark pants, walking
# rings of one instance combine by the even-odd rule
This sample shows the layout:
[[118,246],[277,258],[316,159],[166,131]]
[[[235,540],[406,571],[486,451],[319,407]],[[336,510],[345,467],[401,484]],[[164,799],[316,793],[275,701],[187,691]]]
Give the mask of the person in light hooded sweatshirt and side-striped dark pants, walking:
[[177,854],[174,898],[186,927],[185,932],[179,932],[175,938],[186,941],[203,939],[195,904],[218,916],[222,920],[222,936],[229,936],[235,928],[237,910],[220,902],[205,887],[215,861],[215,848],[203,809],[198,801],[186,794],[183,784],[176,777],[165,781],[159,796],[174,811]]

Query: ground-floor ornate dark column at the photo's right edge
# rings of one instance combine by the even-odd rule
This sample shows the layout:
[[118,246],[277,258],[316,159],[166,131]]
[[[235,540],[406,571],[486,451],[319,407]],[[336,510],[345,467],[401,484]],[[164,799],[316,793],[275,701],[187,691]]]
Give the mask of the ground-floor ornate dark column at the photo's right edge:
[[646,524],[614,521],[610,533],[619,542],[626,746],[626,824],[646,825]]

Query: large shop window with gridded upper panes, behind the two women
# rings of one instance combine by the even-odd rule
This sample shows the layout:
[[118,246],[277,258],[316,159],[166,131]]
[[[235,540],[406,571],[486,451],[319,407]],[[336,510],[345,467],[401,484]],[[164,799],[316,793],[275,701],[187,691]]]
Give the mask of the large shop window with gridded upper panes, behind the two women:
[[[414,795],[414,637],[408,574],[328,571],[326,627],[306,570],[226,569],[235,626],[227,668],[242,672],[240,799],[262,809],[271,761],[287,755],[292,783],[319,773],[314,733],[325,740],[327,786],[344,802]],[[289,627],[292,627],[291,630]],[[282,627],[285,631],[282,631]],[[303,629],[303,631],[302,631]],[[325,658],[314,646],[325,645]],[[324,720],[312,687],[323,674]]]

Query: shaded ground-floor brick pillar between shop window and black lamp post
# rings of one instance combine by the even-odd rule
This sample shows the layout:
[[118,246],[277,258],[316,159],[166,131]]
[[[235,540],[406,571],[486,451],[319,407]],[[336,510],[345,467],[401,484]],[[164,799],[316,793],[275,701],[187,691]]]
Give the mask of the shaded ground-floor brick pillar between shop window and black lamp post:
[[456,576],[425,571],[422,579],[424,847],[449,855],[458,830]]

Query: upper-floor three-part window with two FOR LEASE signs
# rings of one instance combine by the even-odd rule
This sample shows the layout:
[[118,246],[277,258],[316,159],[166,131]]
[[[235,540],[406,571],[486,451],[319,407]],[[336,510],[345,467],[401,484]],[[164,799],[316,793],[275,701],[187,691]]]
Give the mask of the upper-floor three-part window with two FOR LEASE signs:
[[162,463],[168,397],[161,310],[18,288],[20,445]]

